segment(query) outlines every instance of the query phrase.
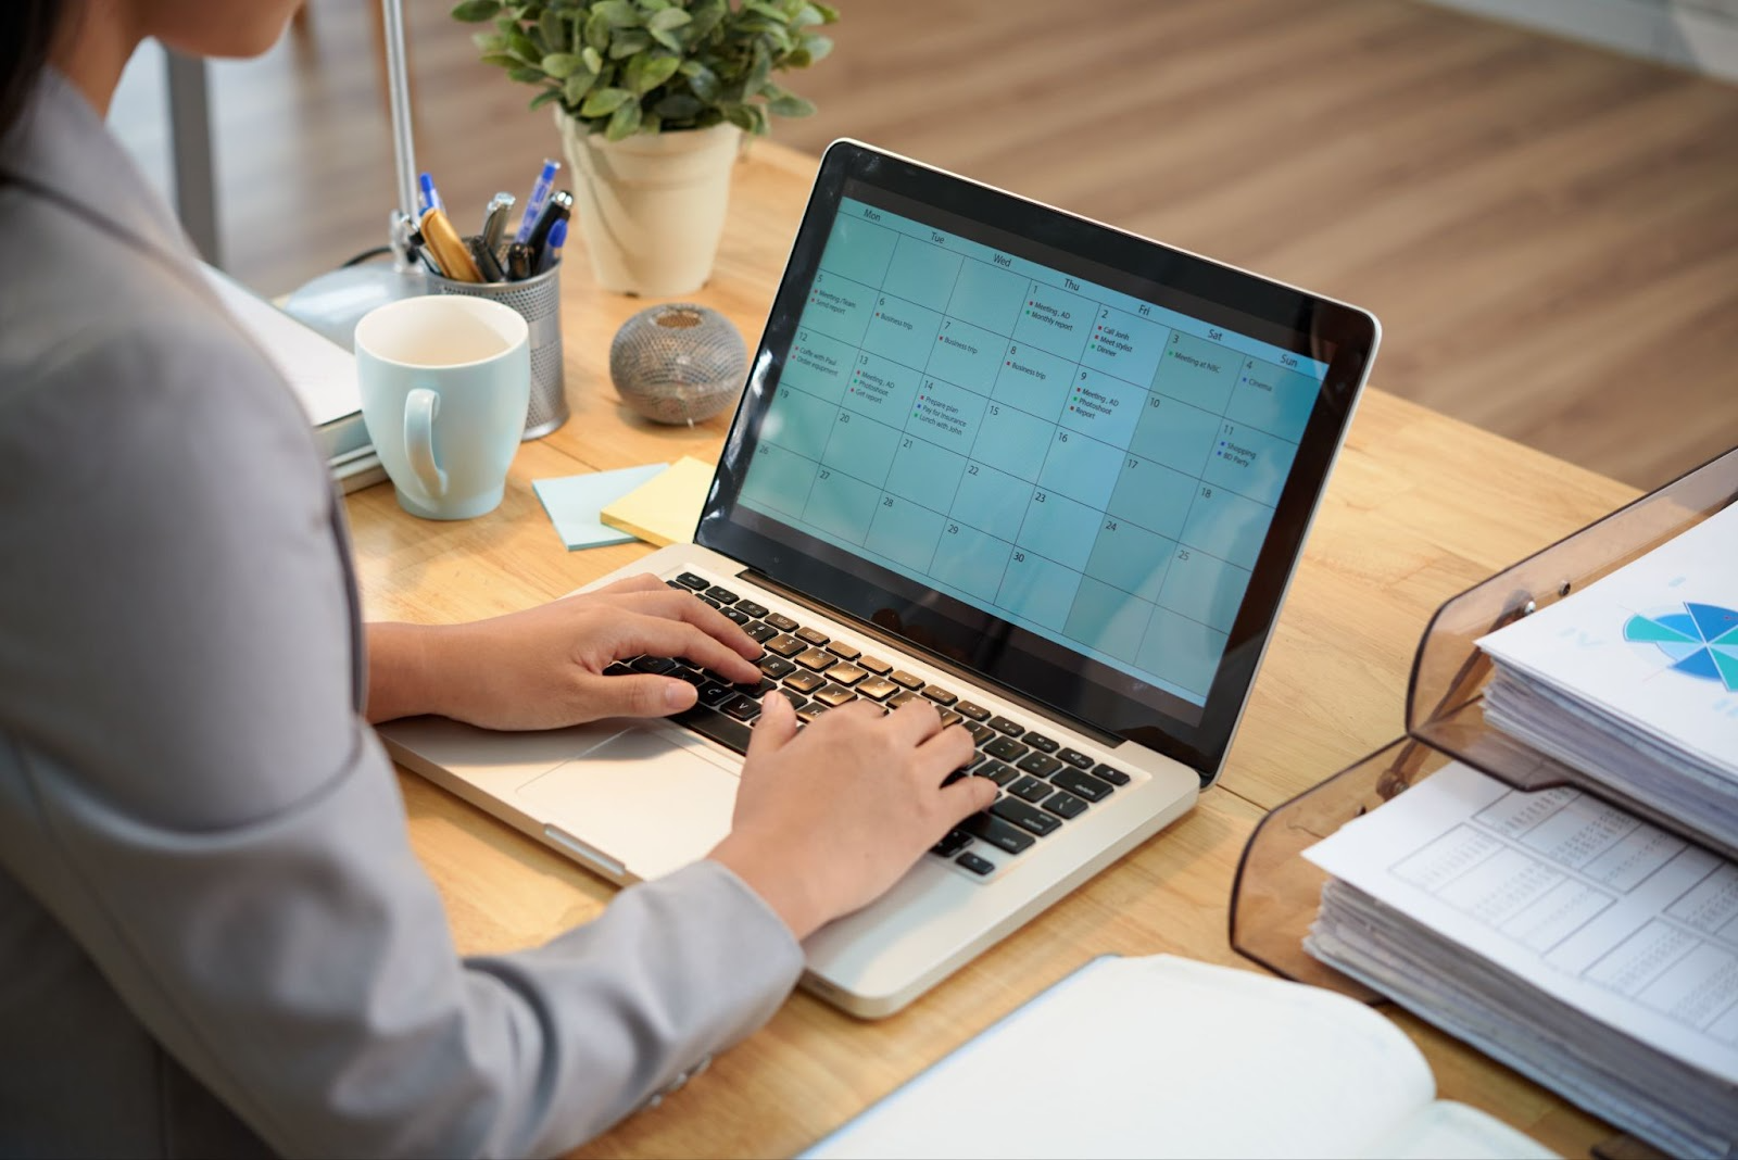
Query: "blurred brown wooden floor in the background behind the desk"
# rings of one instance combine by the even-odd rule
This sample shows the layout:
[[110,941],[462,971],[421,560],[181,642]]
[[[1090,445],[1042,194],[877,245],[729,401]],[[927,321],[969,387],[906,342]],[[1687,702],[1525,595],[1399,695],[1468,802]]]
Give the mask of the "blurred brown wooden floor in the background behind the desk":
[[[461,217],[523,194],[547,116],[445,0],[407,7],[419,165]],[[1364,306],[1378,386],[1632,484],[1738,443],[1731,85],[1408,0],[843,7],[789,144],[860,137]],[[158,73],[113,120],[160,174]],[[231,271],[283,292],[382,240],[363,3],[313,0],[214,104]]]

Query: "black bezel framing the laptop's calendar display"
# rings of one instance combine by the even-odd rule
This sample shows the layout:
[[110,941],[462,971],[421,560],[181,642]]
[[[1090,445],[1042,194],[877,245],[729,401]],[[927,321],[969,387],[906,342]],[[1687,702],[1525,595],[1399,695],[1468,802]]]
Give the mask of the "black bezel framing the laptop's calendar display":
[[[881,191],[892,194],[895,203],[928,207],[940,215],[937,224],[944,229],[966,222],[996,236],[1012,236],[1018,245],[1010,248],[1027,255],[1038,252],[1034,260],[1053,266],[1062,255],[1076,264],[1076,273],[1093,281],[1116,287],[1114,280],[1121,278],[1142,288],[1137,297],[1177,306],[1229,330],[1253,332],[1251,337],[1328,363],[1204,707],[1196,709],[1152,686],[1137,688],[1140,682],[1118,669],[1069,653],[1046,637],[737,504],[760,424],[777,391],[846,186],[852,188],[850,196],[871,203],[872,194]],[[892,212],[909,215],[909,208]],[[954,233],[972,236],[963,229]],[[1356,307],[855,141],[838,141],[822,156],[695,542],[846,620],[866,622],[878,636],[907,644],[952,670],[1107,738],[1123,738],[1175,757],[1208,783],[1224,764],[1248,700],[1328,469],[1368,377],[1376,337],[1375,318]],[[1196,719],[1191,721],[1191,715]]]

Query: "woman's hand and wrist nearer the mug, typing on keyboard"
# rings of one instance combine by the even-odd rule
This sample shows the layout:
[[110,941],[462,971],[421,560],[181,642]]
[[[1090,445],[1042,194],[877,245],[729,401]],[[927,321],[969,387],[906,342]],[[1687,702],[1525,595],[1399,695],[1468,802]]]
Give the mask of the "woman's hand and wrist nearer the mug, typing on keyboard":
[[761,655],[718,610],[640,575],[464,625],[368,625],[368,721],[440,714],[488,729],[553,729],[600,717],[664,717],[695,688],[603,676],[629,656],[685,656],[753,684]]

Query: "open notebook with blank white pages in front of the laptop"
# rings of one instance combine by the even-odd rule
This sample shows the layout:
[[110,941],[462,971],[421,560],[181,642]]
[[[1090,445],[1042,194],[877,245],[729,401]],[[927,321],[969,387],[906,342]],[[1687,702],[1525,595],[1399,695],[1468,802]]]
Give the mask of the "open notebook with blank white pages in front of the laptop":
[[1171,955],[1086,964],[806,1157],[1552,1157],[1389,1019]]

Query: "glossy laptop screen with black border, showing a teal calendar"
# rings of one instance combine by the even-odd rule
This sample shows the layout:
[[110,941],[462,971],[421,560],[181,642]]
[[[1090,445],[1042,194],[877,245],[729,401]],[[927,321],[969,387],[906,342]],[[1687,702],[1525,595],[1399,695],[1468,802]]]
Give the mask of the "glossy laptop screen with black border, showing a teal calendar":
[[[808,597],[1046,709],[1213,759],[1210,705],[1248,651],[1251,603],[1265,639],[1277,601],[1255,580],[1276,523],[1295,523],[1312,420],[1330,412],[1330,445],[1343,427],[1347,391],[1321,408],[1338,335],[1234,285],[1203,297],[1213,280],[1166,276],[1175,250],[838,151],[700,542],[747,531],[723,540]],[[1281,573],[1295,544],[1284,556]]]

